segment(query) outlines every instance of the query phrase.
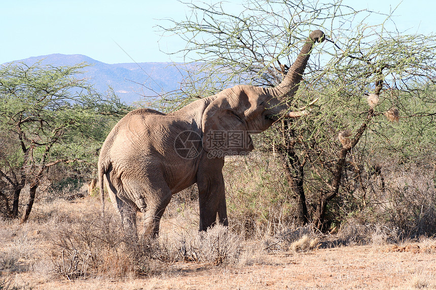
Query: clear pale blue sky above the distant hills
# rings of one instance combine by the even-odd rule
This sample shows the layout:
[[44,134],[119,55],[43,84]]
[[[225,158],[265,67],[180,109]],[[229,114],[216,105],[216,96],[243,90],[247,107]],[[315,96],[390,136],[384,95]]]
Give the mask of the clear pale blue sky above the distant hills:
[[[343,1],[356,10],[383,13],[399,3]],[[436,26],[434,11],[431,0],[404,0],[394,21],[399,30],[428,34]],[[165,23],[159,19],[181,20],[187,13],[176,0],[1,0],[0,63],[52,53],[84,54],[106,63],[181,61],[160,51],[181,47],[177,37],[161,38],[155,26]]]

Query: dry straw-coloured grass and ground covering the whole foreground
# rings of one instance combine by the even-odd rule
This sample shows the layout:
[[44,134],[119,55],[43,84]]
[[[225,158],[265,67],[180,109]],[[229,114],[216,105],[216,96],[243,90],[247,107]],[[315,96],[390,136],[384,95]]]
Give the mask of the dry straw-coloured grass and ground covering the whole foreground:
[[26,225],[1,222],[1,257],[18,257],[15,266],[1,270],[5,289],[415,289],[435,284],[436,265],[430,261],[436,240],[417,241],[428,249],[422,253],[391,252],[383,227],[367,237],[371,245],[333,248],[337,244],[325,248],[326,240],[363,233],[326,236],[305,227],[269,239],[243,239],[232,228],[217,226],[200,235],[194,204],[175,200],[159,239],[132,244],[115,219],[93,214],[99,205],[95,197],[35,205]]

